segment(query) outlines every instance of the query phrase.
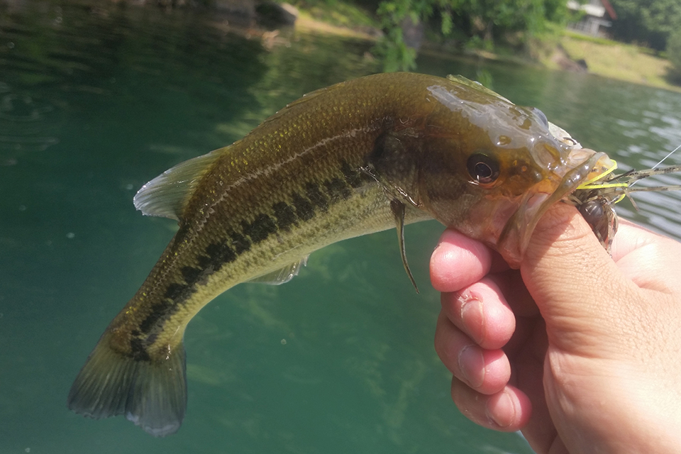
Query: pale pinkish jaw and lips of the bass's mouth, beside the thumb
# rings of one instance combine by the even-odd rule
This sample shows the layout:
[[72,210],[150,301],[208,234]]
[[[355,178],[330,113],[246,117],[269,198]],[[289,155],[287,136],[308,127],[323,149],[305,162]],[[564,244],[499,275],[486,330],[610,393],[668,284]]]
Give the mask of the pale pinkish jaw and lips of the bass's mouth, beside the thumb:
[[[504,226],[497,248],[504,260],[518,268],[539,219],[548,208],[577,187],[610,168],[614,162],[605,153],[596,153],[588,148],[572,150],[567,157],[568,169],[564,175],[555,172],[554,178],[543,179],[526,192],[518,209]],[[558,184],[555,181],[560,179]]]

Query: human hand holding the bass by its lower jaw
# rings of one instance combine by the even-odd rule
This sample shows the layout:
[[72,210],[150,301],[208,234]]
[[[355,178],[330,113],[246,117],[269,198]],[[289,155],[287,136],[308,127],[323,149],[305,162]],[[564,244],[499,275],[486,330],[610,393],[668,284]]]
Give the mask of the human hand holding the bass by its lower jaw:
[[538,453],[681,452],[681,244],[621,221],[612,255],[566,204],[520,270],[443,233],[435,346],[465,416]]

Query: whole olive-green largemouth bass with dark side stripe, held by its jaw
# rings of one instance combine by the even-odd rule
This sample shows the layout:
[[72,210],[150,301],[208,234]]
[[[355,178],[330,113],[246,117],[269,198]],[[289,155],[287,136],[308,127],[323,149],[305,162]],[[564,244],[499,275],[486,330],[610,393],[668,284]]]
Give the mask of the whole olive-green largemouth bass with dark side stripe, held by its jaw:
[[548,206],[609,168],[549,130],[541,111],[465,79],[377,74],[303,96],[233,145],[143,186],[135,206],[179,221],[142,287],[111,321],[68,405],[177,431],[187,405],[182,338],[241,282],[287,282],[345,238],[435,218],[518,265]]

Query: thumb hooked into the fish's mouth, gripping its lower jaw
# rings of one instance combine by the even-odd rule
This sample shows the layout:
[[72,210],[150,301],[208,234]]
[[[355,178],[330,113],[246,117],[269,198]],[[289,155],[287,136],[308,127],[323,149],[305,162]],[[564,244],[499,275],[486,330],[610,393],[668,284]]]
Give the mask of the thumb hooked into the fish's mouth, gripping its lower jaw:
[[575,348],[602,354],[604,338],[619,338],[621,301],[636,295],[574,206],[555,204],[547,211],[520,269],[550,343],[590,355],[596,352]]

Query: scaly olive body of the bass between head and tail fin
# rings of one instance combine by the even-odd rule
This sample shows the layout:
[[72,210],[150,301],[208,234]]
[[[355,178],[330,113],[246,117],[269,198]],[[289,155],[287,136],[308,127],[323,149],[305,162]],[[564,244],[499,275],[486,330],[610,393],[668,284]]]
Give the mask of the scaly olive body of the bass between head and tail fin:
[[[198,158],[209,168],[177,214],[179,231],[109,328],[120,353],[163,358],[196,311],[229,287],[325,245],[394,227],[384,187],[360,169],[377,138],[423,114],[403,107],[399,116],[399,94],[379,88],[375,99],[363,87],[322,89]],[[410,210],[408,221],[426,217]]]

